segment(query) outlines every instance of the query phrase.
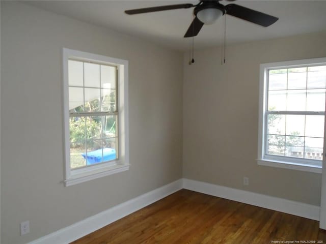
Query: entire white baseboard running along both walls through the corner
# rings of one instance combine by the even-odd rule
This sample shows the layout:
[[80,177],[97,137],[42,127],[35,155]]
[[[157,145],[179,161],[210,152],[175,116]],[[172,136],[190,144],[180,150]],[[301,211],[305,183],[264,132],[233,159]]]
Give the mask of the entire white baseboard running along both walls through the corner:
[[183,178],[43,236],[29,244],[65,244],[72,242],[182,188],[319,221],[319,206]]

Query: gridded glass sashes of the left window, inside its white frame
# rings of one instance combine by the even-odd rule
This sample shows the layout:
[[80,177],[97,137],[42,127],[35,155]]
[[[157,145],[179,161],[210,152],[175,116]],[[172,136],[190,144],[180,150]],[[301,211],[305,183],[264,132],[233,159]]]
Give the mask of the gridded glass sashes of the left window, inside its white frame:
[[117,67],[68,60],[70,168],[118,159]]

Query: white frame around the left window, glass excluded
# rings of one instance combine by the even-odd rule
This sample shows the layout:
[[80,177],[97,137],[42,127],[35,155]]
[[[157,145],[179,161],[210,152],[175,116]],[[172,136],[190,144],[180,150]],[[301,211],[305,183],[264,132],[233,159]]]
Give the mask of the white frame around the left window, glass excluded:
[[[119,159],[107,163],[71,169],[69,131],[69,83],[68,60],[80,59],[88,62],[116,66],[118,69],[118,148]],[[129,130],[128,130],[128,60],[63,48],[63,95],[64,95],[64,185],[72,186],[91,179],[129,170]]]

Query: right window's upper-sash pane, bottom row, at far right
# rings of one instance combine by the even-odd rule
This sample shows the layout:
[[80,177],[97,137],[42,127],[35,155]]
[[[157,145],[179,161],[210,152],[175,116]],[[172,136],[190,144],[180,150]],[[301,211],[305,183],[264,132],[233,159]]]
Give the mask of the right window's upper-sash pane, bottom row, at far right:
[[307,90],[307,111],[325,111],[325,89]]

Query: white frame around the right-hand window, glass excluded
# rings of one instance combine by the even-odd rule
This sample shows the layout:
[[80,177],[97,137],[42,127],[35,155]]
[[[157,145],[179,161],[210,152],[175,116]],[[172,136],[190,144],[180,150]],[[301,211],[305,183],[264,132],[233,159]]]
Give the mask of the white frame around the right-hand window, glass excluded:
[[[294,169],[301,171],[308,171],[314,173],[321,173],[322,161],[316,162],[316,160],[309,159],[295,159],[283,161],[282,156],[266,155],[266,132],[267,132],[267,76],[270,69],[284,69],[294,67],[306,67],[306,66],[322,66],[326,65],[326,58],[310,58],[291,60],[285,62],[266,63],[260,65],[260,80],[259,80],[259,121],[258,121],[258,165]],[[319,113],[318,113],[319,114]],[[323,113],[324,115],[324,113]],[[325,137],[324,137],[325,141]],[[324,153],[323,153],[324,154]],[[285,157],[284,157],[285,158]]]

